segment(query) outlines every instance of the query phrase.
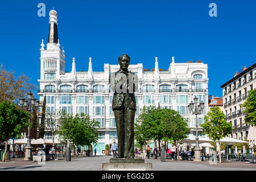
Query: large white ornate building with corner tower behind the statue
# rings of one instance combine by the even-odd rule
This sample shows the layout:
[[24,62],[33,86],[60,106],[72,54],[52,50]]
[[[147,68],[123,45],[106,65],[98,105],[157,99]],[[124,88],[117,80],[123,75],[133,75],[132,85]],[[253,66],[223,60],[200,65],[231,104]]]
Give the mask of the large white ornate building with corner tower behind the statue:
[[[41,44],[41,78],[38,95],[40,101],[46,96],[46,106],[49,109],[62,109],[67,113],[86,113],[91,118],[101,122],[99,126],[99,140],[97,154],[102,154],[106,144],[111,144],[117,138],[114,113],[111,109],[113,92],[110,90],[109,75],[119,69],[119,65],[104,64],[102,72],[93,72],[92,60],[89,58],[89,70],[77,72],[75,59],[71,72],[65,72],[65,51],[61,50],[57,32],[57,12],[50,11],[50,30],[47,48]],[[131,59],[133,59],[132,55]],[[67,60],[72,61],[72,60]],[[118,61],[118,58],[117,58]],[[153,61],[152,61],[153,62]],[[137,73],[139,90],[135,93],[138,119],[139,109],[143,106],[158,104],[178,110],[187,118],[191,134],[195,135],[195,116],[189,114],[187,105],[194,96],[205,102],[204,114],[208,111],[208,77],[207,64],[197,61],[192,63],[175,63],[174,57],[163,71],[158,68],[158,58],[155,57],[155,68],[151,71],[143,69],[142,63],[129,65],[129,71]],[[153,62],[153,63],[154,63]],[[199,124],[203,122],[203,115],[198,115]],[[50,134],[46,133],[46,138]],[[199,132],[199,135],[201,133]]]

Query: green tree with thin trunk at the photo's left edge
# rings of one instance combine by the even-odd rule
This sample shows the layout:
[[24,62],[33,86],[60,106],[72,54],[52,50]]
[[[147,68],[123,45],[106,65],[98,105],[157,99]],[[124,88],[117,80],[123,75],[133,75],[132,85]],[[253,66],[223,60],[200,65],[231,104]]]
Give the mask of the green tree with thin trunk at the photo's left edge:
[[[5,140],[5,156],[7,151],[7,141],[11,137],[20,138],[22,129],[29,126],[29,113],[22,109],[17,109],[17,106],[10,101],[2,101],[0,103],[0,138]],[[5,158],[3,158],[5,162]]]

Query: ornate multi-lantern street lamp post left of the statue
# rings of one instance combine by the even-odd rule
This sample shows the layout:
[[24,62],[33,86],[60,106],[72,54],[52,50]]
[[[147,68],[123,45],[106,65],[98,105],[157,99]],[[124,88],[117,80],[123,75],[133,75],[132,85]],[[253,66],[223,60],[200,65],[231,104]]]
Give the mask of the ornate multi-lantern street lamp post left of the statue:
[[19,101],[20,101],[19,103],[22,106],[25,106],[26,110],[29,111],[29,128],[27,131],[27,144],[25,147],[26,155],[25,155],[24,160],[32,160],[32,148],[33,147],[31,146],[31,140],[30,140],[30,115],[31,115],[31,111],[33,110],[32,107],[33,106],[38,107],[39,101],[34,98],[32,92],[27,93],[27,99],[21,98]]

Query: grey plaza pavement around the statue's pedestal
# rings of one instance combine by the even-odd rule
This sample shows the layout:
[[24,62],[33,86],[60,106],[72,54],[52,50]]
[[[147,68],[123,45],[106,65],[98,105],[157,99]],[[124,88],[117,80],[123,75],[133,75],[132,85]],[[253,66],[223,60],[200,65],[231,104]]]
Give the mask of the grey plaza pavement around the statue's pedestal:
[[[102,163],[109,162],[113,156],[82,156],[46,161],[46,164],[37,162],[25,162],[22,158],[14,161],[0,163],[0,171],[102,171]],[[209,162],[175,161],[167,159],[145,159],[145,162],[153,163],[153,171],[256,171],[256,164],[245,162],[225,162],[210,164]]]

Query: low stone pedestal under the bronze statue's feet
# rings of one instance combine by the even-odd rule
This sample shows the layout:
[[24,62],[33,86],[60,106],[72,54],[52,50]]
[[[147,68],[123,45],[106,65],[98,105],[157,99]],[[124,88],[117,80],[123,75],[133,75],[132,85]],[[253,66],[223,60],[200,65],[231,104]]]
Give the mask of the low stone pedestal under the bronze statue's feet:
[[152,163],[144,159],[110,159],[102,163],[102,171],[152,171]]

